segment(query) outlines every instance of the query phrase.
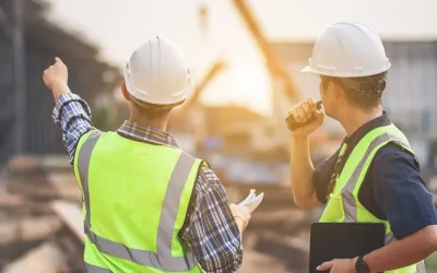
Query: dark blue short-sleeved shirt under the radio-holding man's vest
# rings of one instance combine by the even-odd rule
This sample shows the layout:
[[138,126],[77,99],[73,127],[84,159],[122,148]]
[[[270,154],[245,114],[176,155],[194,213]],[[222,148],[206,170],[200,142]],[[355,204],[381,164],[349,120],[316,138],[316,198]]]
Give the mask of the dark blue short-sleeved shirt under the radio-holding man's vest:
[[[347,159],[366,133],[387,124],[390,124],[390,120],[385,112],[346,138],[344,159]],[[328,183],[338,155],[339,151],[316,167],[312,181],[321,203],[327,202]],[[394,143],[381,147],[375,155],[359,189],[358,200],[376,217],[389,221],[397,239],[437,224],[433,194],[420,175],[417,161],[409,151]]]

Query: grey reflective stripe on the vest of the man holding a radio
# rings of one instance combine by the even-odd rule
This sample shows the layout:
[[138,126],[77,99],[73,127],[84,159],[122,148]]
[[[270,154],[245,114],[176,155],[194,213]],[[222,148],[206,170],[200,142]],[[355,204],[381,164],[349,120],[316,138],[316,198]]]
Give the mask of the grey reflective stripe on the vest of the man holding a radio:
[[[347,183],[344,186],[344,188],[341,191],[342,195],[342,203],[343,203],[343,210],[344,210],[344,223],[357,223],[357,204],[355,202],[355,199],[353,197],[353,191],[355,189],[355,186],[358,181],[359,175],[363,171],[364,165],[367,162],[369,155],[371,152],[379,146],[380,144],[387,142],[387,141],[394,141],[399,143],[400,145],[403,145],[405,147],[410,149],[410,145],[404,142],[404,140],[398,138],[397,135],[389,134],[389,133],[382,133],[381,135],[377,136],[370,145],[367,147],[366,153],[364,154],[363,158],[359,161],[358,166],[354,169],[351,178],[347,180]],[[394,236],[392,233],[389,233],[386,235],[386,245],[389,244],[392,239],[394,239]],[[417,263],[416,268],[416,273],[425,273],[425,264],[424,262]]]

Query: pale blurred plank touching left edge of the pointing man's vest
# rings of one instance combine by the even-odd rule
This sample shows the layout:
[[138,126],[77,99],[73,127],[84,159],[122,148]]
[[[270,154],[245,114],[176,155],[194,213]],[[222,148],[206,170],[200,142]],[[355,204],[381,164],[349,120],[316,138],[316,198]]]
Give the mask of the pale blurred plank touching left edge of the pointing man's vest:
[[51,207],[81,242],[84,244],[83,216],[80,206],[71,202],[58,200],[51,203]]

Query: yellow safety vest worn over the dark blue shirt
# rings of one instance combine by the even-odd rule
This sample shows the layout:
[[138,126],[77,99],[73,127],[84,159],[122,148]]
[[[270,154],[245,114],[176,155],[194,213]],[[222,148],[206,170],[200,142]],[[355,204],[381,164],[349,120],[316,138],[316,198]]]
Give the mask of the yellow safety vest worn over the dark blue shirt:
[[[405,135],[394,126],[379,127],[368,132],[354,147],[335,188],[321,215],[320,222],[330,223],[383,223],[386,225],[386,244],[393,239],[388,221],[379,219],[359,202],[358,192],[375,154],[388,143],[395,143],[414,155]],[[341,147],[343,150],[344,146]],[[389,271],[390,273],[424,273],[424,262],[403,269]]]

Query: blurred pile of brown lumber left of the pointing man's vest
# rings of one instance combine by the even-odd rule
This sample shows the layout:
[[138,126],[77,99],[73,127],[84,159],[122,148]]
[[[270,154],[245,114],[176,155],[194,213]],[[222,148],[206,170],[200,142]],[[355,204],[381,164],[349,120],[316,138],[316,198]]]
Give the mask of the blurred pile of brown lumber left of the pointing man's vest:
[[17,157],[0,177],[0,272],[83,269],[81,193],[64,157]]

